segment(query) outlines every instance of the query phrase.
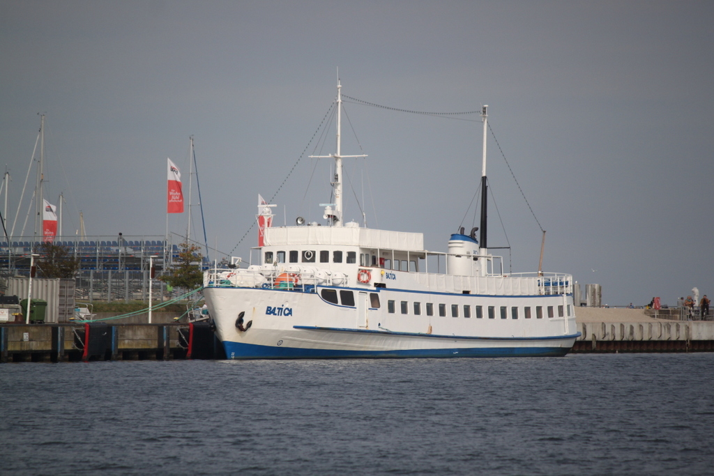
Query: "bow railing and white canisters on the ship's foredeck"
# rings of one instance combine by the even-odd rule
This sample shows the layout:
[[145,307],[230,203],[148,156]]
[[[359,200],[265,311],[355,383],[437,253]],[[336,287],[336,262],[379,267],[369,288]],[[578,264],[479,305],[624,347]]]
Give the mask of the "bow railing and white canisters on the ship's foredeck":
[[345,286],[343,273],[301,266],[250,266],[245,268],[213,268],[203,273],[203,285],[211,288],[263,288],[314,293],[316,286]]

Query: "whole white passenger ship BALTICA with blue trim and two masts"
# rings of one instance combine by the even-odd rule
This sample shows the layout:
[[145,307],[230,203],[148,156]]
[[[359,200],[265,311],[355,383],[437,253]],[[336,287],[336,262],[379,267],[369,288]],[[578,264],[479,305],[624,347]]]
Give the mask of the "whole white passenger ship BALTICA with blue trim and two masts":
[[[211,269],[206,304],[229,359],[453,358],[565,355],[575,327],[573,278],[503,273],[486,248],[486,110],[481,235],[454,233],[448,252],[422,233],[343,223],[337,94],[334,203],[328,226],[271,227],[259,199],[261,265]],[[478,240],[481,240],[479,245]],[[436,264],[434,264],[436,262]],[[431,269],[428,267],[431,265]],[[433,269],[435,268],[436,269]]]

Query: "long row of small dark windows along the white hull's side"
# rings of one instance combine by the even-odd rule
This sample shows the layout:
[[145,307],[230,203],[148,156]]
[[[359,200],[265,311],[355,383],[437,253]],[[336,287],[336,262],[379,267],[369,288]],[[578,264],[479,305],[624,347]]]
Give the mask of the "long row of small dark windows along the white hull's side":
[[[401,310],[402,314],[409,314],[409,303],[408,301],[400,301],[399,307]],[[458,318],[460,317],[460,312],[463,312],[463,317],[464,318],[471,318],[472,313],[471,310],[473,308],[475,317],[477,319],[482,319],[483,318],[483,308],[487,308],[487,313],[488,313],[488,318],[489,319],[495,319],[496,318],[496,306],[495,305],[489,305],[489,306],[481,306],[481,305],[458,305],[458,304],[452,304],[451,305],[451,317],[452,318]],[[572,312],[570,309],[570,305],[558,305],[558,306],[546,306],[546,311],[548,318],[554,318],[555,317],[555,308],[558,308],[558,317],[562,318],[564,313],[567,311],[568,317],[570,317],[570,313]],[[414,301],[413,302],[413,315],[421,315],[421,303]],[[533,317],[533,314],[531,313],[531,306],[525,306],[523,308],[518,308],[518,306],[511,306],[511,319],[518,319],[523,317],[524,319],[531,319]],[[434,315],[434,304],[433,303],[426,303],[426,315]],[[396,313],[396,301],[395,300],[388,300],[387,301],[387,312],[394,314]],[[442,318],[446,317],[446,304],[438,304],[438,315],[440,315]],[[500,306],[500,315],[501,319],[508,319],[508,306],[502,305]],[[536,319],[543,319],[543,306],[542,305],[537,305],[535,306],[535,318]]]

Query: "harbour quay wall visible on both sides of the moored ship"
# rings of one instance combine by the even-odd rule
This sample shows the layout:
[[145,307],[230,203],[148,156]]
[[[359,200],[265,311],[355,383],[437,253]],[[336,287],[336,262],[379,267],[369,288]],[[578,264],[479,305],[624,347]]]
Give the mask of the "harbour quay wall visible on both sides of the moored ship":
[[[656,319],[636,309],[578,308],[575,315],[581,335],[573,353],[714,352],[713,321]],[[101,317],[112,316],[95,318]],[[151,324],[146,315],[130,318],[134,322],[92,323],[106,340],[89,357],[84,353],[89,340],[83,323],[3,323],[0,362],[191,358],[188,326],[174,322],[174,317],[174,313],[153,313]],[[192,347],[193,358],[221,358],[222,346],[210,328],[206,325],[201,332],[203,337]]]

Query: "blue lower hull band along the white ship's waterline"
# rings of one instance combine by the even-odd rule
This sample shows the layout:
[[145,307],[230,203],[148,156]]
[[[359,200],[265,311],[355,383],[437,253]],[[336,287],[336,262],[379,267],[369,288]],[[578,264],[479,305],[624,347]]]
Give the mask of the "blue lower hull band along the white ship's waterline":
[[228,359],[349,359],[349,358],[466,358],[466,357],[562,357],[570,348],[503,347],[418,350],[332,350],[275,347],[223,342]]

